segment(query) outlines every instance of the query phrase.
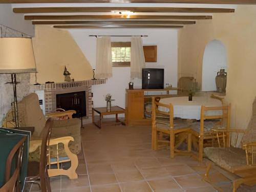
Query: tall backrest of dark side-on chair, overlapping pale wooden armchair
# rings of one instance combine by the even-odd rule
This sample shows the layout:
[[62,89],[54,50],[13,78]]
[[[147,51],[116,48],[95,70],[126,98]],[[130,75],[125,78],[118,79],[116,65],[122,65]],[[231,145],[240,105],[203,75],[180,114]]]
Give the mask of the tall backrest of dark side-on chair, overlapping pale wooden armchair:
[[46,121],[45,127],[42,130],[42,143],[40,150],[40,166],[39,166],[39,177],[41,182],[41,191],[51,191],[49,176],[48,176],[48,154],[49,154],[49,142],[51,137],[53,120],[49,118]]

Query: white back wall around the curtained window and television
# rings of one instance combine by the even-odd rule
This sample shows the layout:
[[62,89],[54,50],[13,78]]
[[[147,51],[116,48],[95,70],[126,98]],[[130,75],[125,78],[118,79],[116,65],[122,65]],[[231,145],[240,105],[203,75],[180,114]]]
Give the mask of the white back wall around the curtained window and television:
[[[76,43],[95,69],[96,38],[89,35],[148,35],[143,37],[143,45],[157,45],[157,62],[146,63],[147,68],[164,68],[164,83],[177,86],[177,30],[173,29],[100,29],[69,30]],[[131,37],[112,37],[112,41],[130,41]],[[104,95],[110,93],[113,105],[125,107],[125,89],[130,82],[130,67],[113,68],[113,77],[106,84],[93,86],[94,107],[105,106]],[[135,81],[134,81],[135,82]],[[135,87],[141,87],[136,80]]]

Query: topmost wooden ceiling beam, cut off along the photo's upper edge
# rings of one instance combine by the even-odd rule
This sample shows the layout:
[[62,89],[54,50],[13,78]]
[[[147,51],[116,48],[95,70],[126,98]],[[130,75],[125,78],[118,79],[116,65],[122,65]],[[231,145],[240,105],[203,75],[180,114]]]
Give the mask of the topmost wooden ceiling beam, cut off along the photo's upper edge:
[[[113,0],[0,0],[0,3],[118,3]],[[121,1],[121,3],[123,3]],[[124,3],[195,3],[254,5],[255,0],[126,0]]]

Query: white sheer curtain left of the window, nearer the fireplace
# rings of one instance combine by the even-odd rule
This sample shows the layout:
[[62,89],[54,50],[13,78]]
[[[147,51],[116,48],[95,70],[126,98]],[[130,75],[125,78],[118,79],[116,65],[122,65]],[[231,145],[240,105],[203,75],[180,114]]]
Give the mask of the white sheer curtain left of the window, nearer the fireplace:
[[110,37],[97,38],[95,77],[97,79],[106,79],[112,77]]

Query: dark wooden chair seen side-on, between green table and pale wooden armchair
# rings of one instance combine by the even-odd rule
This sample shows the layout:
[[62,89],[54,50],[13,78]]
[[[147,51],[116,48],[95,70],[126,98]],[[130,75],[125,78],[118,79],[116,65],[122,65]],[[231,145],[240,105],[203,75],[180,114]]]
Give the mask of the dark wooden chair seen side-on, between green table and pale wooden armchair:
[[[51,185],[48,176],[48,151],[49,151],[49,143],[51,137],[51,129],[52,129],[52,118],[49,118],[46,121],[45,127],[42,130],[42,140],[40,145],[40,163],[39,163],[39,170],[37,166],[37,162],[29,163],[28,170],[37,170],[39,171],[38,174],[28,175],[26,178],[26,182],[38,184],[39,188],[42,192],[51,192]],[[31,141],[33,142],[33,141]],[[28,172],[29,174],[30,172]]]

